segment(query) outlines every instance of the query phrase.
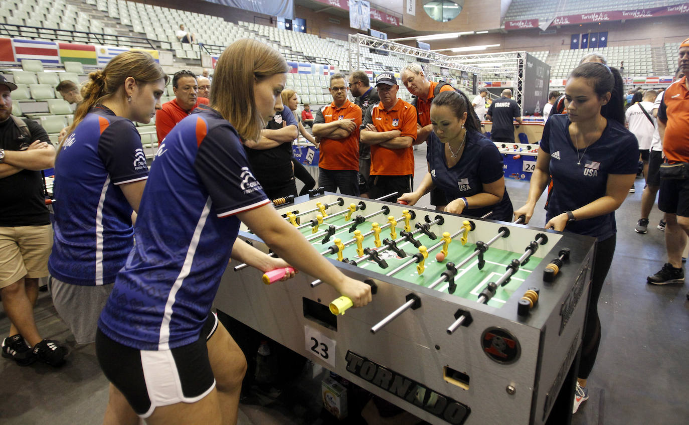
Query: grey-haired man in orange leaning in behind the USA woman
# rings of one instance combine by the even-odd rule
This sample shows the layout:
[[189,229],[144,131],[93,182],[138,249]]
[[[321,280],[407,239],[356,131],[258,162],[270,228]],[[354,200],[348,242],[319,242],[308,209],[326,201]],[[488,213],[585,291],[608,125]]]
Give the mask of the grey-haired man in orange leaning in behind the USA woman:
[[[435,98],[435,88],[438,84],[434,81],[426,79],[424,69],[418,63],[409,63],[409,65],[402,68],[402,83],[407,87],[407,90],[416,97],[416,113],[418,127],[418,135],[416,137],[415,145],[422,144],[428,139],[433,126],[431,126],[431,103]],[[441,92],[454,91],[455,89],[449,84],[440,86]],[[440,188],[431,190],[431,205],[435,206],[437,210],[443,210],[447,201],[445,199],[445,192]]]

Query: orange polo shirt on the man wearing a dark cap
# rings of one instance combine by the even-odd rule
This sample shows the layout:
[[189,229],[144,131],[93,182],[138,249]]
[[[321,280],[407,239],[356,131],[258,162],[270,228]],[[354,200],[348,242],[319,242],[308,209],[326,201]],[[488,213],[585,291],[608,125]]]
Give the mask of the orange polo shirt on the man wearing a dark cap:
[[[385,110],[383,103],[378,103],[371,110],[373,126],[380,132],[400,130],[402,136],[416,140],[416,108],[402,99],[391,110]],[[371,175],[402,176],[414,174],[414,150],[409,148],[390,149],[380,145],[371,145]]]

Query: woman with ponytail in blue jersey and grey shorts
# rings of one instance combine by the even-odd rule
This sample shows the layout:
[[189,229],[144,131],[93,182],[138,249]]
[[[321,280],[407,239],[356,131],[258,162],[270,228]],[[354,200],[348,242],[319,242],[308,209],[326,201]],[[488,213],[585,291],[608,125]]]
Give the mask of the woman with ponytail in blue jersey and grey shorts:
[[98,317],[132,249],[132,211],[148,177],[132,121],[161,108],[167,75],[151,55],[124,52],[91,72],[55,161],[53,303],[76,342],[96,339]]

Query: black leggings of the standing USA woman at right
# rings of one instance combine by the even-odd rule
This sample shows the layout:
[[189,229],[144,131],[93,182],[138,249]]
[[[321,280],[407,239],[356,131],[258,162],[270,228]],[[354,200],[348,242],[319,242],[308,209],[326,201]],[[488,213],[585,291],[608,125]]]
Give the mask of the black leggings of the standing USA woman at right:
[[586,310],[586,328],[582,342],[582,362],[579,364],[579,379],[587,379],[593,369],[601,343],[601,322],[598,318],[598,298],[603,289],[603,283],[610,264],[613,263],[617,235],[604,241],[597,241],[596,252],[593,256],[593,273],[591,274],[591,297]]

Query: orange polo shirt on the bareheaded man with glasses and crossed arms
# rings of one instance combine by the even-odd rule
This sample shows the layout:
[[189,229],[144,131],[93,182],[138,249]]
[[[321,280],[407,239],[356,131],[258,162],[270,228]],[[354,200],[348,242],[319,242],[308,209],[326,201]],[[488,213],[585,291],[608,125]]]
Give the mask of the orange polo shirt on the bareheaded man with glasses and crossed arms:
[[351,118],[356,128],[345,139],[320,140],[320,159],[318,168],[325,170],[359,170],[359,127],[361,126],[361,108],[347,99],[341,108],[330,103],[320,113],[325,123]]

